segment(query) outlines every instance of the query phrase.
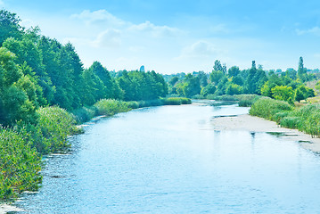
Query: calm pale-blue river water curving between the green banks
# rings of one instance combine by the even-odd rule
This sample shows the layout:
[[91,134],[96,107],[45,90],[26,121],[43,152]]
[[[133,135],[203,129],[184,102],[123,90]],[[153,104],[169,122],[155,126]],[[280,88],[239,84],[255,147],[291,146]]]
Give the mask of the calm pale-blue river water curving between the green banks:
[[[214,131],[235,105],[144,108],[102,119],[45,157],[25,213],[320,213],[320,158],[267,133]],[[19,212],[21,213],[21,212]]]

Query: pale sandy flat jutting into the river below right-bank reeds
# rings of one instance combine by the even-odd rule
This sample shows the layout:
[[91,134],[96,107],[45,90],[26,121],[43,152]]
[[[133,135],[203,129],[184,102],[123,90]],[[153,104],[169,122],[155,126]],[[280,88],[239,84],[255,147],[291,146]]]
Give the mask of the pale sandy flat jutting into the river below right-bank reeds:
[[285,140],[297,141],[304,148],[320,152],[320,138],[312,138],[295,129],[281,128],[275,122],[243,114],[211,119],[215,130],[247,130],[250,132],[278,132]]

